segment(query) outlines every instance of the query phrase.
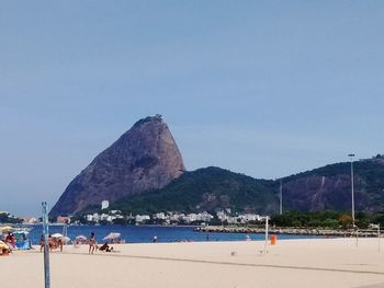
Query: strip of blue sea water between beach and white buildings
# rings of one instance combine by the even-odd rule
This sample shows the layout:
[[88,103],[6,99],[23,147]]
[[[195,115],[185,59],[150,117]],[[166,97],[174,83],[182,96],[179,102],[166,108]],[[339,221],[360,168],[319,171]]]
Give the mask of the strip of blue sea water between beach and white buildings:
[[[49,233],[63,233],[63,226],[49,226]],[[42,226],[34,226],[30,232],[30,239],[33,244],[38,244],[42,234]],[[246,240],[246,233],[202,233],[194,232],[193,227],[158,227],[158,226],[69,226],[67,235],[75,239],[83,234],[87,238],[94,232],[98,243],[110,232],[121,233],[121,239],[128,243],[149,243],[157,235],[158,242],[177,242],[177,241],[241,241]],[[264,234],[248,234],[251,240],[264,240]],[[303,235],[278,235],[278,239],[308,239],[318,237]]]

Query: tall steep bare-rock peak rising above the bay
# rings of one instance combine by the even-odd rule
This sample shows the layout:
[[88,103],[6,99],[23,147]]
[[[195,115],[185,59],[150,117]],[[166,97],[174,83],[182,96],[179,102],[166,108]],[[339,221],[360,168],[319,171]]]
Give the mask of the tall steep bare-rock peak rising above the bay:
[[161,116],[137,122],[100,153],[66,188],[50,216],[74,215],[102,200],[161,188],[184,171],[179,149]]

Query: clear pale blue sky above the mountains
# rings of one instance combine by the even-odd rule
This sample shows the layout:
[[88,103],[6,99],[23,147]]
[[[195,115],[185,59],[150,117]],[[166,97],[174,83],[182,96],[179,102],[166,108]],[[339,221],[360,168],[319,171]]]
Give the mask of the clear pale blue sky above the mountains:
[[0,210],[39,215],[156,113],[188,170],[384,152],[383,1],[0,3]]

